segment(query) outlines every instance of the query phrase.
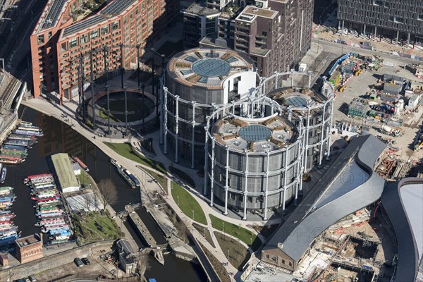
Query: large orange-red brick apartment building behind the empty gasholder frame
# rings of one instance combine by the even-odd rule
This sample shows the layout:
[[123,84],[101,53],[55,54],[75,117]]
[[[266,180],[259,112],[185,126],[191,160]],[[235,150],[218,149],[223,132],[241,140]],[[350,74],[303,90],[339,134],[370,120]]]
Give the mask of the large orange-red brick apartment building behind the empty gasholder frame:
[[179,2],[173,0],[112,0],[93,16],[74,23],[84,2],[49,0],[44,8],[30,37],[35,97],[42,91],[58,90],[62,102],[78,95],[81,56],[85,77],[90,77],[91,71],[102,74],[104,61],[109,71],[122,65],[130,68],[137,62],[134,47],[140,46],[142,56],[143,49],[166,31],[179,13]]

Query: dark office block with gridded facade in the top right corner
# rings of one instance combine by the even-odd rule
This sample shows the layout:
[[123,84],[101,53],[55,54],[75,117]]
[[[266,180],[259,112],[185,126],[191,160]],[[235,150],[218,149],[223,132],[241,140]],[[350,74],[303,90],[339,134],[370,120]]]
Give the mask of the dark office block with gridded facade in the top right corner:
[[423,42],[423,1],[338,0],[338,28],[397,42]]

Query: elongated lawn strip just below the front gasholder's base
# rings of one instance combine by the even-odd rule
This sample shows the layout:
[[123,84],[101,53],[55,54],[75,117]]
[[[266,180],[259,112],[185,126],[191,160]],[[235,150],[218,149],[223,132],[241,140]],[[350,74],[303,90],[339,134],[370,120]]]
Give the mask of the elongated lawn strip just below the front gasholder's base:
[[247,229],[237,226],[233,223],[229,223],[228,221],[223,221],[216,216],[213,216],[212,214],[209,214],[209,216],[212,220],[212,226],[215,229],[219,231],[222,231],[223,229],[225,233],[233,235],[233,237],[236,237],[242,240],[245,244],[249,245],[252,250],[256,251],[262,245],[262,241],[251,231],[248,231]]

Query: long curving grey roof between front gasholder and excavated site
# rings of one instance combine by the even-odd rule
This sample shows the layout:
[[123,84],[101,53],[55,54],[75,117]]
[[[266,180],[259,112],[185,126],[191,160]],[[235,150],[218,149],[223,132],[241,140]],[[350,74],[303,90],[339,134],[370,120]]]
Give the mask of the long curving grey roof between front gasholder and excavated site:
[[[361,185],[357,183],[357,187],[345,191],[345,193],[333,193],[334,188],[332,188],[332,185],[336,183],[336,180],[335,182],[333,182],[331,178],[319,180],[316,185],[324,185],[324,193],[329,191],[332,195],[336,195],[337,197],[330,202],[325,202],[324,206],[315,209],[314,212],[307,215],[305,219],[302,219],[300,223],[293,223],[290,218],[288,218],[286,223],[283,223],[283,225],[278,228],[278,231],[276,231],[274,236],[269,240],[264,250],[278,247],[282,252],[298,262],[309,247],[309,244],[312,243],[314,238],[325,231],[326,228],[343,217],[348,216],[348,214],[352,214],[378,200],[384,190],[385,180],[377,173],[374,173],[373,169],[374,163],[381,153],[384,152],[385,148],[386,145],[373,135],[365,135],[353,139],[333,165],[336,165],[339,160],[344,163],[343,166],[348,163],[351,164],[349,160],[355,156],[353,162],[356,164],[353,166],[360,166],[363,171],[369,173],[369,178]],[[331,168],[329,168],[329,170],[330,169]],[[342,178],[344,176],[342,172],[343,171],[340,169],[336,178]],[[315,186],[313,189],[319,188]],[[307,196],[303,202],[307,199]],[[300,206],[297,207],[297,209],[300,208]],[[312,207],[309,208],[311,209]]]

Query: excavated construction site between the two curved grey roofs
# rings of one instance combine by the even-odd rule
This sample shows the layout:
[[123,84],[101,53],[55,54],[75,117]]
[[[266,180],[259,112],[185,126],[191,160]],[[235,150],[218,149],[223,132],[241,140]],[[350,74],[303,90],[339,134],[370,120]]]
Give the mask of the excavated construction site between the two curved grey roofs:
[[390,226],[367,207],[345,217],[317,237],[295,276],[307,281],[390,281],[395,250]]

